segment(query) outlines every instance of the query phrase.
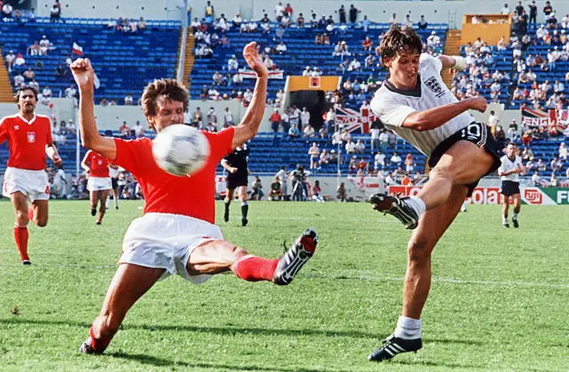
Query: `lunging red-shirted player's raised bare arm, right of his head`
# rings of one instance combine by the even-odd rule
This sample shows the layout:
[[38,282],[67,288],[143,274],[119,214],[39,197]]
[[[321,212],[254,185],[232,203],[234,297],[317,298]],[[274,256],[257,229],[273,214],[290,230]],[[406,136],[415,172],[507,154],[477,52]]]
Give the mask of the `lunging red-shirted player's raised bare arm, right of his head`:
[[243,48],[243,56],[249,67],[257,73],[257,84],[252,93],[249,108],[245,112],[241,123],[235,127],[233,149],[249,141],[257,134],[260,121],[265,113],[265,102],[267,101],[268,69],[263,61],[260,61],[259,46],[254,42],[246,44]]

